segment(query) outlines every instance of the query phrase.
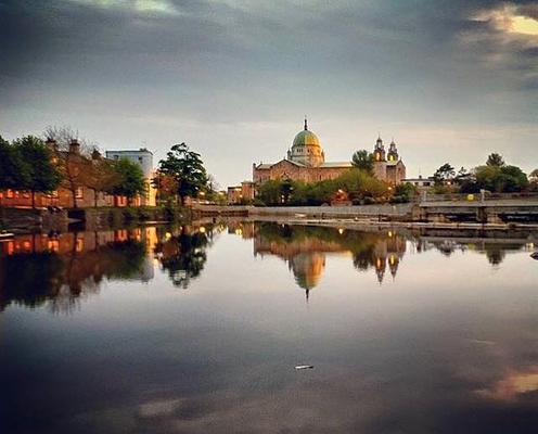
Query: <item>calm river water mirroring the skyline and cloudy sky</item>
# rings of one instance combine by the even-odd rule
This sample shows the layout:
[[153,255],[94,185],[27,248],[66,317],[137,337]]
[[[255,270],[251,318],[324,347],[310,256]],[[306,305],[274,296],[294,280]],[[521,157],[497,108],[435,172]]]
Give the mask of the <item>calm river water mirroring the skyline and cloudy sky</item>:
[[0,431],[536,433],[531,241],[230,224],[0,243]]

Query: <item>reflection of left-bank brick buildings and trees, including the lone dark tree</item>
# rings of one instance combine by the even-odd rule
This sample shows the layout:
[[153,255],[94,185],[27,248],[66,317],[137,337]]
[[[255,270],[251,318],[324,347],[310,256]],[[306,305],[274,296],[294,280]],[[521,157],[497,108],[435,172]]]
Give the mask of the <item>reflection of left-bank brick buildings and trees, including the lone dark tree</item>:
[[17,235],[0,243],[0,309],[50,302],[53,311],[69,312],[104,280],[151,281],[156,264],[187,289],[213,237],[212,226]]

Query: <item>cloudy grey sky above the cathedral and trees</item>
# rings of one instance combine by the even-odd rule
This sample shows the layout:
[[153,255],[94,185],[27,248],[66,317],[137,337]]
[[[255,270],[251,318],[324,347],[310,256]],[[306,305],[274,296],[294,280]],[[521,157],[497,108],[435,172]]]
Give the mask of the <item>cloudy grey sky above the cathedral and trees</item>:
[[219,184],[284,157],[399,146],[409,177],[491,152],[538,167],[538,2],[0,0],[0,135],[175,143]]

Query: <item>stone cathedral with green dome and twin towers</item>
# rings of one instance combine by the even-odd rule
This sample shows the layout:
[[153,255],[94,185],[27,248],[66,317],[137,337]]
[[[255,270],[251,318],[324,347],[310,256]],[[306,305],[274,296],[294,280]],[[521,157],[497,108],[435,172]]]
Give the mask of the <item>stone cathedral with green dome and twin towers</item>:
[[[375,142],[373,151],[374,175],[390,184],[398,184],[406,178],[406,166],[398,155],[394,140],[385,151],[381,138]],[[293,140],[287,156],[273,164],[253,164],[253,182],[259,186],[268,180],[292,179],[294,181],[317,182],[334,179],[350,169],[350,162],[328,163],[320,140],[305,127]]]

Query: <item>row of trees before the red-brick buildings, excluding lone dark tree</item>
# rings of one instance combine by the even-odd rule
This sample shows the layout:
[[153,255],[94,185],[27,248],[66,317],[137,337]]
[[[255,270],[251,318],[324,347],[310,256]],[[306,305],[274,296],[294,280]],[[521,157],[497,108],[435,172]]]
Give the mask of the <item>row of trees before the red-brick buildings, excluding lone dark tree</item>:
[[77,191],[88,188],[99,194],[126,196],[129,202],[146,191],[141,167],[126,158],[102,157],[95,146],[79,141],[68,128],[50,127],[47,142],[35,136],[8,141],[0,137],[0,190],[51,194],[59,188],[69,192],[78,207]]

